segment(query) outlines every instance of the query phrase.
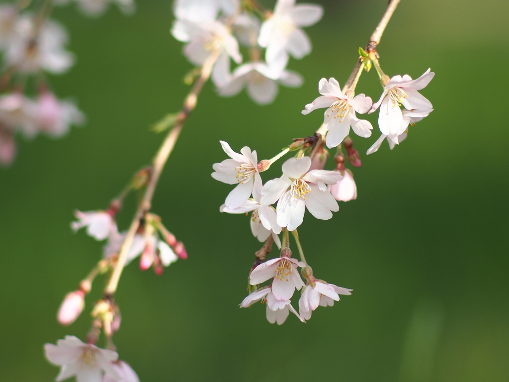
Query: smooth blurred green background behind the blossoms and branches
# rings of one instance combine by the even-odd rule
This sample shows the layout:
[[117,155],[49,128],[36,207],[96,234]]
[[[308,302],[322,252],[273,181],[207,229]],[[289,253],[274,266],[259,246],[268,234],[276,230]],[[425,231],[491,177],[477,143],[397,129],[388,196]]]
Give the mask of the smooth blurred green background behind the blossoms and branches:
[[[376,127],[370,139],[352,135],[362,159],[353,169],[358,199],[341,203],[327,222],[307,215],[299,228],[315,275],[353,288],[352,296],[306,324],[291,316],[271,325],[264,307],[238,308],[261,243],[247,217],[218,211],[231,189],[210,176],[225,158],[218,140],[268,158],[312,134],[322,113],[300,111],[318,95],[321,77],[344,83],[387,3],[316,2],[325,14],[306,29],[312,56],[289,65],[305,78],[300,89],[282,88],[264,107],[245,93],[219,98],[211,84],[200,97],[153,203],[189,258],[162,277],[136,263],[126,268],[114,338],[121,359],[142,381],[509,380],[505,0],[402,0],[389,23],[378,49],[382,68],[416,78],[431,67],[436,76],[422,94],[435,111],[393,151],[384,143],[364,155]],[[161,142],[149,125],[177,111],[188,91],[182,78],[191,66],[168,33],[171,2],[137,3],[132,17],[117,9],[99,19],[74,7],[54,13],[78,60],[51,83],[79,101],[88,124],[62,140],[18,139],[14,165],[0,170],[2,381],[53,380],[58,368],[46,362],[43,344],[86,336],[103,279],[78,321],[63,328],[55,319],[103,245],[72,234],[72,212],[108,206]],[[375,70],[357,91],[378,99]],[[374,126],[377,115],[368,117]],[[274,166],[267,175],[278,173]],[[133,203],[125,204],[121,229]]]

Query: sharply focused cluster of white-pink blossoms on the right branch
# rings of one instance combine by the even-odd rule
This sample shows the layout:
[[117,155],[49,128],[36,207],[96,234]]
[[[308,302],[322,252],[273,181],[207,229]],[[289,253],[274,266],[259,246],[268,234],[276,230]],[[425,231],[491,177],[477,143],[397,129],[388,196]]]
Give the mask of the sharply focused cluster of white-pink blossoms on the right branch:
[[[228,143],[221,141],[222,148],[230,159],[215,163],[212,177],[224,183],[236,184],[236,187],[230,192],[220,211],[252,211],[253,235],[260,241],[267,240],[264,247],[256,253],[257,261],[249,275],[251,293],[240,306],[249,307],[257,301],[267,304],[267,319],[271,323],[283,323],[289,312],[304,322],[318,306],[331,306],[334,301],[339,301],[340,294],[351,294],[351,289],[329,284],[313,276],[312,268],[305,261],[297,228],[303,222],[305,209],[317,219],[328,220],[331,219],[332,212],[339,210],[336,201],[346,202],[357,198],[357,186],[352,172],[345,168],[342,147],[346,150],[346,157],[351,165],[361,166],[359,154],[353,148],[349,137],[350,129],[363,138],[371,137],[373,129],[371,123],[359,119],[357,113],[373,113],[380,108],[378,124],[382,135],[368,150],[367,153],[370,154],[378,150],[384,139],[387,139],[392,149],[406,137],[409,125],[433,111],[431,102],[418,91],[429,84],[434,73],[428,69],[416,80],[412,80],[408,75],[389,78],[380,68],[374,49],[369,52],[362,49],[360,51],[360,65],[357,72],[354,71],[355,80],[349,86],[342,90],[335,78],[322,78],[318,85],[321,96],[305,105],[302,114],[309,114],[318,108],[326,109],[324,122],[313,136],[296,139],[280,154],[270,160],[261,161],[258,161],[256,151],[244,147],[239,154],[233,151]],[[372,63],[377,68],[383,87],[380,100],[375,104],[364,94],[355,95],[360,74],[363,69],[369,71]],[[401,106],[405,108],[402,110]],[[329,149],[336,148],[336,168],[333,171],[323,170],[328,157],[325,146]],[[298,153],[283,163],[282,176],[263,184],[260,173],[294,150],[298,150]],[[278,236],[281,232],[283,244]],[[301,261],[292,258],[290,232],[296,240]],[[278,248],[282,247],[280,257],[264,262],[273,242],[276,242]],[[305,283],[298,273],[299,267]],[[270,285],[260,287],[260,284],[267,281],[270,281]],[[297,312],[291,305],[291,299],[295,289],[302,288]]]

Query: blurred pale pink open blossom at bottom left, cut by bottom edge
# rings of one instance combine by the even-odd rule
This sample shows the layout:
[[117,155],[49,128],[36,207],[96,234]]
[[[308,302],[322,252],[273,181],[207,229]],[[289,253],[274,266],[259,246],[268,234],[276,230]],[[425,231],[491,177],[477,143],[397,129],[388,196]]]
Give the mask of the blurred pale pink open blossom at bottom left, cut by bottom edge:
[[119,357],[116,351],[83,343],[74,336],[58,340],[56,345],[47,343],[44,350],[49,362],[62,367],[56,382],[73,375],[78,382],[102,382],[103,371],[117,379],[122,378],[112,364]]

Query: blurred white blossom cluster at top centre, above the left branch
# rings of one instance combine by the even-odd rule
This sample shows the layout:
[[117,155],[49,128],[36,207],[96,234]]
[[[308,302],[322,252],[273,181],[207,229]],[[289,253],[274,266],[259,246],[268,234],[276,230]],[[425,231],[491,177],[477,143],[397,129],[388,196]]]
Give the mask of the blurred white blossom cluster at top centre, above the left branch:
[[[311,52],[301,28],[315,24],[323,14],[320,6],[295,5],[295,0],[278,0],[273,11],[250,1],[177,0],[174,11],[172,34],[186,43],[184,55],[191,63],[203,65],[211,54],[218,54],[212,71],[218,94],[234,96],[246,88],[259,104],[272,102],[279,84],[302,84],[298,73],[287,70],[288,61]],[[239,45],[247,50],[247,62],[242,63]],[[231,60],[238,64],[233,71]]]

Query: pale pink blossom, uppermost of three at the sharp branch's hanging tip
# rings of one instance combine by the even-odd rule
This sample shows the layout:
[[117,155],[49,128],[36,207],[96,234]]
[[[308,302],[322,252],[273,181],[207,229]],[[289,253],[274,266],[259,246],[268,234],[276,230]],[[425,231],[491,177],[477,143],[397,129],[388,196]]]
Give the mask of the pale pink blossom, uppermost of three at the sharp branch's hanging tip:
[[270,288],[275,298],[287,301],[292,298],[295,288],[300,290],[304,286],[297,270],[299,266],[303,267],[306,264],[291,257],[267,260],[251,271],[249,283],[258,285],[272,279]]

